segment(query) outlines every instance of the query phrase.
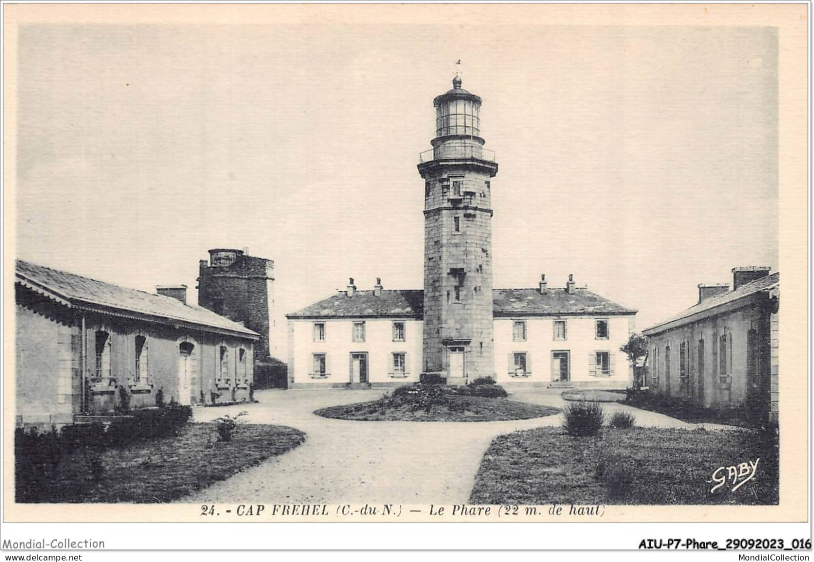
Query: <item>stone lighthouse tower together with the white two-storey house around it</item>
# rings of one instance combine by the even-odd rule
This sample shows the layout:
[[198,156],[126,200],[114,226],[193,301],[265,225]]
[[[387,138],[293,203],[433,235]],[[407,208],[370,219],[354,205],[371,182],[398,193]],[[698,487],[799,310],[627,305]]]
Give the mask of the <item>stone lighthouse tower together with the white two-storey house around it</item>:
[[[624,388],[619,347],[635,310],[569,276],[549,288],[492,289],[494,153],[480,134],[481,98],[461,87],[434,100],[436,136],[422,153],[424,288],[346,290],[287,315],[288,386],[447,384],[492,377],[517,386]],[[513,385],[514,386],[514,385]]]

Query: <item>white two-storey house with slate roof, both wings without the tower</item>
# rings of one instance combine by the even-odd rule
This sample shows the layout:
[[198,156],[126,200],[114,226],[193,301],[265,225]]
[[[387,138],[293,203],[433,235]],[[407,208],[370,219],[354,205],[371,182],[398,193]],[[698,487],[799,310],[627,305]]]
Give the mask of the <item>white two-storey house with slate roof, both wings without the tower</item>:
[[[420,380],[421,290],[346,290],[287,315],[290,388],[400,386]],[[504,386],[626,388],[632,370],[619,348],[636,311],[569,281],[564,288],[496,289],[495,361],[489,377]],[[465,352],[466,353],[466,352]],[[469,365],[467,361],[465,365]],[[464,370],[461,384],[483,377]]]

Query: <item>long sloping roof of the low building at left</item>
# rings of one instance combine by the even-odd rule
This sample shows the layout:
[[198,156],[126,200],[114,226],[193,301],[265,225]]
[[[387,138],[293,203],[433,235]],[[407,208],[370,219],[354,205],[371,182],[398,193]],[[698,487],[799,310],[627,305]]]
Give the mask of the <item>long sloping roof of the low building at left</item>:
[[16,282],[68,307],[119,316],[147,317],[148,320],[170,325],[192,324],[207,331],[237,333],[252,339],[259,337],[259,334],[237,322],[206,308],[184,304],[177,298],[127,289],[22,259],[16,262]]

